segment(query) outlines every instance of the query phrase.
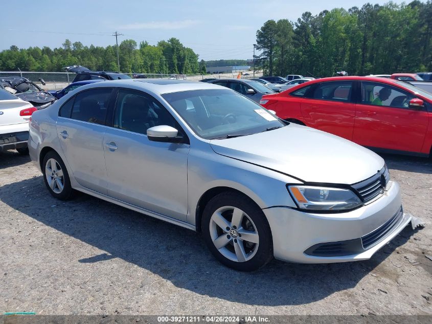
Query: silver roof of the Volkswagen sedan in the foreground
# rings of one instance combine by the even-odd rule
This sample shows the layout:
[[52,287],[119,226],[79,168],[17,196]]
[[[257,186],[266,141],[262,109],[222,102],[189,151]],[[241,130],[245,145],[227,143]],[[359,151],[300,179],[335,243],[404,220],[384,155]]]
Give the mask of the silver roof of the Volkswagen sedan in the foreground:
[[186,80],[167,80],[167,79],[121,79],[106,80],[97,82],[92,88],[96,87],[127,87],[131,89],[143,89],[156,94],[165,94],[172,92],[190,91],[190,90],[208,90],[208,89],[225,89],[221,85]]

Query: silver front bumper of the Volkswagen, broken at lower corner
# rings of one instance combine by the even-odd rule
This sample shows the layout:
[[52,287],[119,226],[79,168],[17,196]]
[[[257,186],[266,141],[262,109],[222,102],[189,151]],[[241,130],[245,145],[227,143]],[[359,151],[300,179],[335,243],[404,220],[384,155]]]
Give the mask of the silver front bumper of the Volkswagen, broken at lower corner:
[[[273,236],[275,257],[298,263],[368,260],[411,222],[411,215],[401,209],[399,184],[391,181],[386,189],[374,202],[345,213],[313,214],[287,207],[264,209]],[[383,232],[385,224],[391,226]],[[367,245],[366,240],[375,233],[382,235],[374,244]],[[327,248],[327,254],[311,252],[323,244],[340,242],[350,242],[345,253],[335,252],[334,247]],[[351,253],[347,253],[350,249]]]

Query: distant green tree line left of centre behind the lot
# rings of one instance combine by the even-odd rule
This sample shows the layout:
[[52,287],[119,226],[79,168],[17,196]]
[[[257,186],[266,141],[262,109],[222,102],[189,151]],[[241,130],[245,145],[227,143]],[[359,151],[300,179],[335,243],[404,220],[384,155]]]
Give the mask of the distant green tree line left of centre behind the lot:
[[[161,40],[157,45],[125,39],[119,45],[120,70],[123,73],[197,74],[206,69],[198,54],[177,38]],[[0,71],[58,72],[66,66],[81,65],[93,71],[118,71],[116,46],[84,46],[66,39],[62,47],[51,49],[11,46],[0,52]],[[205,71],[204,71],[205,73]]]

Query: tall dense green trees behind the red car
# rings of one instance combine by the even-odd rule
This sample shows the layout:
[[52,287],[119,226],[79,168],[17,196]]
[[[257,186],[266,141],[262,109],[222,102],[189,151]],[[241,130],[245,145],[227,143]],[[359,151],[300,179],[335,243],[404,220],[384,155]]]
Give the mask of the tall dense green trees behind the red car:
[[332,76],[432,71],[432,2],[366,4],[295,23],[268,20],[257,31],[256,56],[269,75]]

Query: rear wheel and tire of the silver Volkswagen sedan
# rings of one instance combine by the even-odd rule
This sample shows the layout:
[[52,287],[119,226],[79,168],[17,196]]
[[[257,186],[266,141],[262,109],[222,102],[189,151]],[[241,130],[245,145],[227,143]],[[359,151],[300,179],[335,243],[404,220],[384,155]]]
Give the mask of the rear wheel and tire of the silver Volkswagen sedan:
[[43,158],[42,173],[45,185],[54,198],[67,200],[72,195],[72,186],[66,166],[60,156],[50,151]]

